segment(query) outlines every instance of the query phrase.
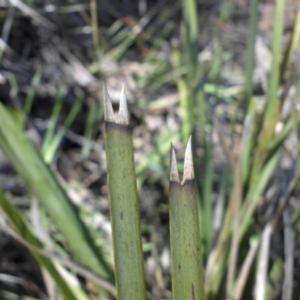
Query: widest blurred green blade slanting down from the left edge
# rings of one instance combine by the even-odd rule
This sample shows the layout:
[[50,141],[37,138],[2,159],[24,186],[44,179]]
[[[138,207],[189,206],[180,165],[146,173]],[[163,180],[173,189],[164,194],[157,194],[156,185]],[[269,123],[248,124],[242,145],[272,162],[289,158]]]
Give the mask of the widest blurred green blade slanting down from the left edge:
[[[112,270],[97,250],[77,208],[27,140],[7,109],[0,104],[0,147],[33,195],[63,233],[74,259],[106,279]],[[22,151],[20,151],[22,149]]]

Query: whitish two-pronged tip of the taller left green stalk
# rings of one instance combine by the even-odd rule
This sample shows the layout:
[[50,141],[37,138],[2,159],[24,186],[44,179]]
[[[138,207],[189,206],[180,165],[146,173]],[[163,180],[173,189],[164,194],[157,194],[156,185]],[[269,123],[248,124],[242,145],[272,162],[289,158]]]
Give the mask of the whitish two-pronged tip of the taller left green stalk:
[[127,99],[125,95],[125,88],[123,86],[120,95],[119,113],[115,114],[111,99],[105,84],[103,83],[103,97],[104,97],[104,117],[106,122],[113,122],[121,125],[129,125],[129,112],[127,107]]

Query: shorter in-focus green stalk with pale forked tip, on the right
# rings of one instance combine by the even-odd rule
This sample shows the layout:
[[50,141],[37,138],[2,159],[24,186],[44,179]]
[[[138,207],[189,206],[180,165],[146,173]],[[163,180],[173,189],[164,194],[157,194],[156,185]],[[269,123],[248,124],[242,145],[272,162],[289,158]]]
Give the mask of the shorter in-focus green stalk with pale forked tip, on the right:
[[182,182],[179,181],[175,151],[172,147],[170,233],[173,300],[204,300],[204,271],[191,139],[185,153]]

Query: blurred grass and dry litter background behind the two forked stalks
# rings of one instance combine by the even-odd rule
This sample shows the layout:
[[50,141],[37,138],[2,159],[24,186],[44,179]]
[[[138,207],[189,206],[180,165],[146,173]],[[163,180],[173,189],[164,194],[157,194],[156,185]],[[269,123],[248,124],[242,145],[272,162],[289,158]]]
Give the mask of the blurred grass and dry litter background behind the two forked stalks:
[[0,298],[115,297],[104,81],[115,108],[126,86],[149,299],[172,298],[169,151],[182,171],[191,134],[207,298],[298,299],[299,10],[0,0]]

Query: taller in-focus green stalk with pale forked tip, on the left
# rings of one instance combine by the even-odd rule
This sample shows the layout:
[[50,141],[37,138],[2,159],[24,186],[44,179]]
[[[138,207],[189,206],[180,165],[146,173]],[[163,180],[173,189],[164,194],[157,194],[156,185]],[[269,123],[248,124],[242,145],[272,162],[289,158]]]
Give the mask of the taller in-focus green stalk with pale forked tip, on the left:
[[124,88],[114,115],[104,87],[105,146],[118,299],[146,299],[139,200]]

